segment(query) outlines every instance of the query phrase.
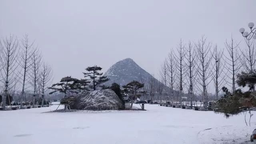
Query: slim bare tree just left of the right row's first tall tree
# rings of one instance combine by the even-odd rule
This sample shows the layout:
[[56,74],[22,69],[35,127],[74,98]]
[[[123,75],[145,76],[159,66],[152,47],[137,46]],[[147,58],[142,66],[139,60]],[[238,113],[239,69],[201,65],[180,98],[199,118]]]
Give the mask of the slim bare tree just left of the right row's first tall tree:
[[168,68],[168,81],[169,81],[169,87],[170,87],[170,98],[172,104],[174,103],[174,83],[175,83],[175,64],[174,64],[174,56],[172,53],[172,50],[168,54],[168,63],[167,63],[167,68]]

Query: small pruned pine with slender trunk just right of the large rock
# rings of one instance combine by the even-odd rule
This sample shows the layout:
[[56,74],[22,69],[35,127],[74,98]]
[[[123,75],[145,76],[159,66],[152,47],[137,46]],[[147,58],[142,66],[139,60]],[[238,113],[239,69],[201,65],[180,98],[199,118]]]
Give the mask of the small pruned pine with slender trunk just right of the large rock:
[[144,87],[144,84],[141,84],[138,81],[132,81],[132,82],[129,82],[128,84],[126,84],[125,86],[123,86],[124,92],[125,92],[125,94],[128,94],[129,100],[131,102],[130,109],[132,109],[134,100],[136,100],[137,98],[140,98],[140,96],[145,94],[144,91],[141,91],[141,88],[143,88],[143,87]]

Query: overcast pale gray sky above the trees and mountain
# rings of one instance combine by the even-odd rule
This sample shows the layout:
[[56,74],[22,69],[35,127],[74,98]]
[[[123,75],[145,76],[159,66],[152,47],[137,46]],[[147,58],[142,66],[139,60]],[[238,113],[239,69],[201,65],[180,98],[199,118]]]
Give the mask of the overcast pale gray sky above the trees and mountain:
[[1,0],[0,36],[29,34],[54,82],[124,58],[157,76],[180,38],[204,34],[223,48],[231,34],[242,40],[238,30],[256,22],[255,10],[256,0]]

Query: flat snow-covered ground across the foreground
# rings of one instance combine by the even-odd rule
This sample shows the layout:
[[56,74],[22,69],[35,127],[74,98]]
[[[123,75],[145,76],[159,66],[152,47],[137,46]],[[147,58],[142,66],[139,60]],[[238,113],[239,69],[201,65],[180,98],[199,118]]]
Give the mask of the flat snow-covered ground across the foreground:
[[246,127],[243,114],[149,104],[147,111],[48,112],[56,108],[0,111],[0,144],[253,144],[256,128],[254,116]]

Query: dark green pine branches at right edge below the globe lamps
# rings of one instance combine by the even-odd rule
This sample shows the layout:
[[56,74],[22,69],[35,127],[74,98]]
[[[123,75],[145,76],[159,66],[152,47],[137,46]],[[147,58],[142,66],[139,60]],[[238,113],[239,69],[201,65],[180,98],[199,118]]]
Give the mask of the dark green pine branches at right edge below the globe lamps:
[[256,106],[256,72],[241,72],[237,77],[236,82],[238,86],[248,86],[249,91],[242,92],[242,90],[238,89],[231,93],[226,87],[223,87],[222,90],[225,92],[224,97],[213,104],[214,111],[224,113],[226,117],[239,114],[240,112],[250,111]]

